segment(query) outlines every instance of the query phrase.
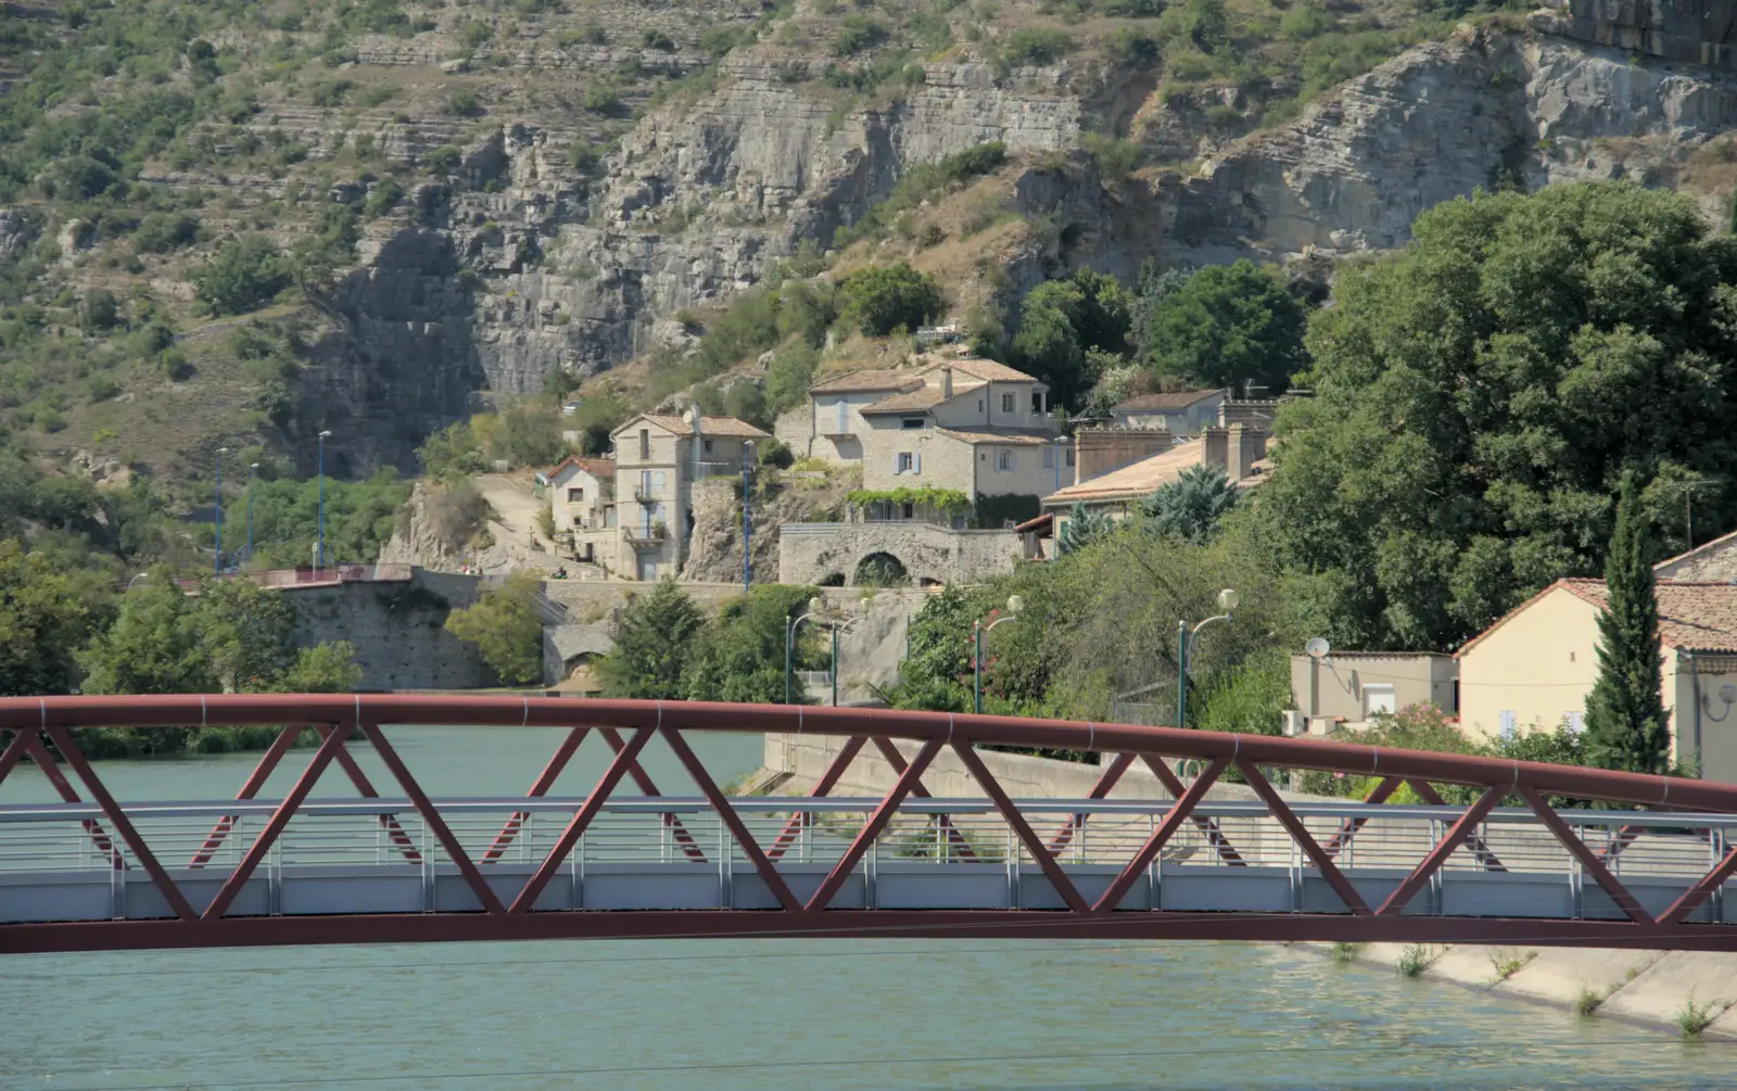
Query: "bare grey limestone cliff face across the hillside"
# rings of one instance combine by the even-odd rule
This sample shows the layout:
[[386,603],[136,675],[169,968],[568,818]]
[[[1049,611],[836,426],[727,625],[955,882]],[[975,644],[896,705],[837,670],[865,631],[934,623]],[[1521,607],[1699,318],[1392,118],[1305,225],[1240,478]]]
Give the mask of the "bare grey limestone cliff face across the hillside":
[[[997,76],[955,61],[928,64],[891,104],[839,115],[808,64],[726,59],[712,90],[648,113],[591,179],[570,165],[589,136],[547,111],[504,120],[346,281],[342,330],[299,412],[363,422],[356,469],[406,464],[471,391],[530,393],[556,368],[592,374],[648,351],[657,320],[756,283],[804,240],[825,248],[914,163],[983,141],[1065,153],[1089,118],[1122,123],[1153,97],[1153,73],[1061,63]],[[1007,295],[1070,264],[1131,276],[1148,257],[1331,262],[1403,245],[1419,212],[1476,188],[1671,184],[1734,125],[1737,75],[1468,28],[1186,177],[1106,181],[1079,156],[1077,169],[1025,156],[1014,203],[1051,217],[1056,241],[1011,259]]]

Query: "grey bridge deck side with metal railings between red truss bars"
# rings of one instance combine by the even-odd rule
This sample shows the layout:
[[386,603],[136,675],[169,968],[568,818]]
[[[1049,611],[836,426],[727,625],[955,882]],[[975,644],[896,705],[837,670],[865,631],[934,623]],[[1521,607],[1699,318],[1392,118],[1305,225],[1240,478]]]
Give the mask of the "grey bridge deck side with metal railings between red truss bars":
[[[208,902],[281,801],[130,804],[137,832],[195,907]],[[730,799],[773,869],[806,903],[849,850],[877,799]],[[441,799],[439,815],[502,903],[538,869],[584,799]],[[1056,863],[1096,902],[1171,801],[1028,799],[1018,813],[1058,846]],[[1381,905],[1461,817],[1449,806],[1298,803],[1318,843],[1362,823],[1339,872]],[[1258,801],[1202,803],[1119,900],[1122,912],[1339,914],[1351,907]],[[518,818],[516,818],[518,817]],[[1086,817],[1086,818],[1077,818]],[[1612,853],[1610,872],[1650,914],[1680,898],[1737,834],[1737,815],[1565,813]],[[0,806],[0,926],[170,919],[125,844],[92,837],[94,804]],[[228,832],[205,851],[217,823]],[[502,830],[511,839],[502,844]],[[1624,910],[1525,810],[1492,810],[1482,850],[1456,851],[1400,910],[1412,917],[1622,921]],[[490,858],[490,850],[499,853]],[[1225,846],[1225,851],[1221,851]],[[200,860],[200,856],[205,856]],[[198,865],[191,865],[196,862]],[[175,863],[181,863],[179,867]],[[615,799],[559,856],[535,910],[776,910],[754,860],[705,799]],[[1061,893],[987,799],[907,799],[846,876],[832,910],[1065,910]],[[478,893],[408,799],[306,801],[245,879],[229,917],[476,914]],[[1688,922],[1737,924],[1737,879]]]

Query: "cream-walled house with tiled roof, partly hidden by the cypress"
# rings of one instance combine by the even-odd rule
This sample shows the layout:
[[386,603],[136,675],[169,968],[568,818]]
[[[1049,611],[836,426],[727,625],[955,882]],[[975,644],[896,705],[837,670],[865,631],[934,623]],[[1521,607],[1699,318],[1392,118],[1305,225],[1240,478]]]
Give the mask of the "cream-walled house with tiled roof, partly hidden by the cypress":
[[[1661,580],[1655,596],[1673,754],[1699,759],[1707,780],[1737,784],[1737,585]],[[1556,580],[1468,641],[1454,655],[1463,728],[1581,730],[1603,608],[1603,580]]]

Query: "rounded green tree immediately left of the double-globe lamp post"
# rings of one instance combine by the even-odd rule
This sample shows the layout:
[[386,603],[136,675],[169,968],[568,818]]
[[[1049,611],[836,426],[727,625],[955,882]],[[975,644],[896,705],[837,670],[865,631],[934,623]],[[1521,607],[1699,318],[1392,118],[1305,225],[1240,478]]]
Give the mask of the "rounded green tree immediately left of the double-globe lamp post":
[[[783,704],[783,625],[813,594],[813,587],[768,585],[724,603],[693,641],[681,679],[683,695],[688,700]],[[811,627],[802,636],[809,643],[815,639]],[[811,657],[801,658],[796,667]]]

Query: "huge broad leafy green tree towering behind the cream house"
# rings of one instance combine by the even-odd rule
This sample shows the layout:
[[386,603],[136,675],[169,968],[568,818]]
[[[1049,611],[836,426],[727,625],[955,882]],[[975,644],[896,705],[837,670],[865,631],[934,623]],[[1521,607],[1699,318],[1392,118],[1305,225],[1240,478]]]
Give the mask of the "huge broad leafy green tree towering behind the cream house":
[[1412,235],[1341,268],[1311,321],[1315,396],[1280,410],[1261,486],[1317,632],[1450,650],[1596,575],[1626,469],[1661,514],[1681,512],[1673,481],[1709,481],[1695,525],[1732,526],[1737,241],[1694,202],[1551,186],[1449,202]]

